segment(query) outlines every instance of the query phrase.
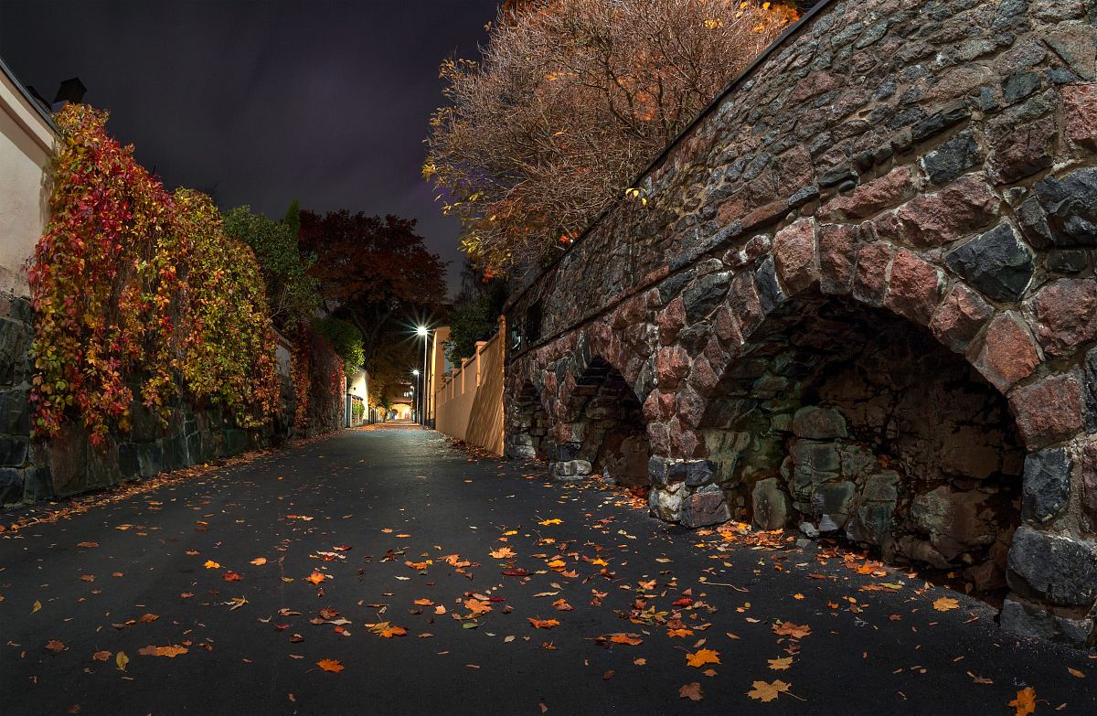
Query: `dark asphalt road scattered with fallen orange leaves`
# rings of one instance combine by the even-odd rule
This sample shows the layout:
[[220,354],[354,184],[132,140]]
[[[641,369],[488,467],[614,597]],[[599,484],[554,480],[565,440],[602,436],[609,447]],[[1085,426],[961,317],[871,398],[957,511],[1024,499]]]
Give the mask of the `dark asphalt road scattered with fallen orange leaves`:
[[348,430],[0,534],[0,714],[1097,713],[981,602],[543,476]]

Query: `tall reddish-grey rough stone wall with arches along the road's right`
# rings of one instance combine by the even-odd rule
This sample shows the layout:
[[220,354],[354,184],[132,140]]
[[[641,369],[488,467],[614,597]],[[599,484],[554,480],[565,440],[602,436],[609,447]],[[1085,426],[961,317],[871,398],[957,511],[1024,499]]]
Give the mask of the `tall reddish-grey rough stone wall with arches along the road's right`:
[[508,452],[623,440],[581,412],[601,361],[656,516],[840,529],[1094,641],[1095,24],[821,3],[512,298]]

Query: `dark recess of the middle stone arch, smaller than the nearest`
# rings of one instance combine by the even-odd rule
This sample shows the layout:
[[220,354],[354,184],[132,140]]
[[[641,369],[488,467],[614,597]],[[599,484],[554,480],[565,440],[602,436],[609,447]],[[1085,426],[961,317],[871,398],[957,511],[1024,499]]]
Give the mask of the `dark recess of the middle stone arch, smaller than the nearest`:
[[573,360],[570,367],[553,476],[576,480],[598,473],[626,486],[646,485],[651,449],[633,388],[600,356]]

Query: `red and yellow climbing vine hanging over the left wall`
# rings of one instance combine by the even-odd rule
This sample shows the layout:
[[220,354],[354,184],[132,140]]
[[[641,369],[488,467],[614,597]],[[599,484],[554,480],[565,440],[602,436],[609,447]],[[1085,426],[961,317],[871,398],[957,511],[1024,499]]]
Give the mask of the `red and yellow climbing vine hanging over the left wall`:
[[255,255],[207,197],[169,195],[106,120],[82,104],[55,116],[50,220],[30,267],[35,434],[79,417],[101,444],[128,429],[135,391],[165,421],[185,395],[265,422],[275,344]]

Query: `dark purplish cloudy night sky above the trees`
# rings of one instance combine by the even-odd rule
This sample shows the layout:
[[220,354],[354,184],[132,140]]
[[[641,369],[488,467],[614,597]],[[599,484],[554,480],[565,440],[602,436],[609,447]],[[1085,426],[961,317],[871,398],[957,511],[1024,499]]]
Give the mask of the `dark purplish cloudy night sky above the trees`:
[[459,226],[419,176],[439,63],[477,57],[497,0],[0,0],[0,56],[84,101],[170,188],[280,219],[305,209],[419,220],[460,272]]

